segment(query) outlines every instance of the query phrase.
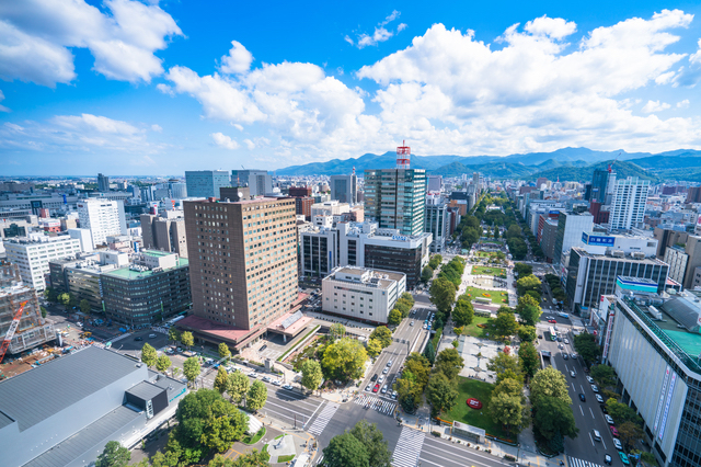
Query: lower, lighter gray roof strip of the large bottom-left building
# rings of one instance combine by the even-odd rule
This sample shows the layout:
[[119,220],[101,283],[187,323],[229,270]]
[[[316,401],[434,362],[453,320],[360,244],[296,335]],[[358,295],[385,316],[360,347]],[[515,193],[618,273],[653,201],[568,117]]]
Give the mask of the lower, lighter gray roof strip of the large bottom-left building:
[[[55,467],[68,465],[140,417],[140,412],[136,412],[125,406],[119,406],[68,440],[58,443],[42,455],[24,464],[23,467]],[[101,451],[102,448],[104,448],[104,446],[100,447]]]

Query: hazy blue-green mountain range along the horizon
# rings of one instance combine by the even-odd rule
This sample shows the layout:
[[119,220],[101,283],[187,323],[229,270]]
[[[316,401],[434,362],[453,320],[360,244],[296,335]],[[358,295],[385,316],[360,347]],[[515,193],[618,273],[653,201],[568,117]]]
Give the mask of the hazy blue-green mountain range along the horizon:
[[[366,153],[355,159],[333,159],[292,166],[276,171],[277,175],[341,175],[355,168],[363,174],[367,169],[395,167],[394,152]],[[701,181],[701,151],[677,149],[659,153],[597,151],[588,148],[562,148],[552,152],[530,152],[509,156],[411,156],[411,167],[425,169],[428,174],[457,176],[480,172],[493,179],[589,181],[596,169],[612,163],[618,178],[639,176],[653,182],[663,180]]]

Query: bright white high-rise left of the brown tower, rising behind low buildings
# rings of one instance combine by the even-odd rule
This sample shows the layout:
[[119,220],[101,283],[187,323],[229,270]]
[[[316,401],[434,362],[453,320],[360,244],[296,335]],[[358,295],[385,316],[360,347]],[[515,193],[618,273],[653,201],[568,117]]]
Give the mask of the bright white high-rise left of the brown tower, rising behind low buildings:
[[124,202],[90,198],[77,206],[80,228],[90,230],[93,248],[105,244],[107,236],[127,234]]

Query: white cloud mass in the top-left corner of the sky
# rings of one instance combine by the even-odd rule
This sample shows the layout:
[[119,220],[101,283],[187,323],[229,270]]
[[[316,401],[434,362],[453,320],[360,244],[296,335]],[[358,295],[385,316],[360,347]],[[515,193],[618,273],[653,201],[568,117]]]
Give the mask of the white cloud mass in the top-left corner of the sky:
[[106,0],[101,12],[84,0],[0,2],[0,77],[56,87],[76,78],[70,48],[88,48],[93,69],[108,79],[150,82],[163,72],[153,54],[182,35],[158,4]]

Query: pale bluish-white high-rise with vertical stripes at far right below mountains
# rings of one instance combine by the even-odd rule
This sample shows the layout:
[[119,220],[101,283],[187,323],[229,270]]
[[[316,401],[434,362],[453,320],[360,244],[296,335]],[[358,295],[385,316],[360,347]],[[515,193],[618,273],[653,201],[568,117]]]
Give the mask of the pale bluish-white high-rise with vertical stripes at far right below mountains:
[[609,231],[642,227],[648,189],[647,180],[629,176],[625,180],[616,181],[609,215]]

